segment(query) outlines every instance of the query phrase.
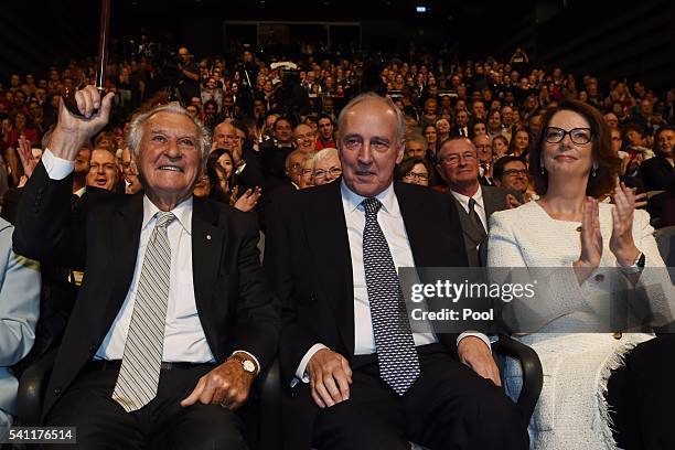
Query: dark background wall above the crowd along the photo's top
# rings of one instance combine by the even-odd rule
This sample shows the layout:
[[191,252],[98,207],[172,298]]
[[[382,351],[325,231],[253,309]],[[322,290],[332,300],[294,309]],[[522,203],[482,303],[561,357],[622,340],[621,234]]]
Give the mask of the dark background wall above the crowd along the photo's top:
[[[425,4],[429,13],[418,14]],[[12,1],[0,7],[0,77],[38,72],[71,56],[94,55],[98,1]],[[407,52],[446,45],[461,60],[507,58],[523,46],[532,60],[609,81],[643,79],[650,87],[675,81],[675,2],[486,0],[218,1],[113,0],[117,47],[141,30],[170,36],[197,55],[224,49],[224,21],[350,21],[362,24],[369,50]]]

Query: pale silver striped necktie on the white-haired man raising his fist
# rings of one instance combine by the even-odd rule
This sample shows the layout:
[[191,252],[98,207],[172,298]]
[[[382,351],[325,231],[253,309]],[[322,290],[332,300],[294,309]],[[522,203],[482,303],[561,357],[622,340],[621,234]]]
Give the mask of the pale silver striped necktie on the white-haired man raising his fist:
[[146,248],[125,353],[113,390],[113,399],[127,413],[142,408],[157,395],[171,271],[167,227],[173,219],[173,213],[157,213]]

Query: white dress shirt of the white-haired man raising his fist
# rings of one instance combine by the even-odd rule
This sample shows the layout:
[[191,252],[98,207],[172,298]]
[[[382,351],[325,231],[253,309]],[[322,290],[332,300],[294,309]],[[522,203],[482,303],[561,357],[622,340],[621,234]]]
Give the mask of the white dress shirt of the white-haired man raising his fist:
[[[73,171],[73,162],[54,154],[47,149],[43,154],[43,164],[47,175],[53,180],[63,180]],[[167,227],[167,235],[171,246],[171,268],[169,302],[167,307],[167,320],[164,324],[164,344],[162,361],[185,363],[213,363],[215,362],[211,347],[206,342],[204,330],[197,314],[194,297],[193,271],[192,271],[192,196],[180,203],[171,212],[175,215]],[[138,255],[133,278],[127,292],[127,297],[118,311],[113,325],[108,330],[103,343],[96,352],[95,358],[121,360],[125,352],[127,332],[131,323],[133,303],[138,280],[140,278],[143,258],[148,240],[154,229],[156,214],[160,210],[143,196],[143,221],[141,225]],[[238,351],[243,352],[243,351]],[[249,355],[259,367],[255,355]]]

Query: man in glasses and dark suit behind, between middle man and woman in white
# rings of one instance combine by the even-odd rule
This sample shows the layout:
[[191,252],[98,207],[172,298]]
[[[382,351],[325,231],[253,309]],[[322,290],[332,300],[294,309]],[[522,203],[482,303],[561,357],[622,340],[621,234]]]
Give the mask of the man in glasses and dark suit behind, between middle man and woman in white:
[[467,138],[448,139],[438,150],[437,170],[457,206],[469,265],[480,266],[479,246],[490,231],[490,215],[516,205],[513,193],[479,182],[475,146]]

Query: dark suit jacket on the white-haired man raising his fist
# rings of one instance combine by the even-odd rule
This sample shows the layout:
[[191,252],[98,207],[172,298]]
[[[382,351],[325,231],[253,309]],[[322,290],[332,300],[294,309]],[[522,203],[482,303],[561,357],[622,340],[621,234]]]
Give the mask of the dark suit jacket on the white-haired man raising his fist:
[[[21,255],[85,271],[56,356],[43,418],[92,360],[127,296],[138,253],[142,194],[90,193],[71,211],[71,176],[50,180],[40,163],[26,184],[14,233]],[[253,215],[194,199],[192,267],[197,313],[219,364],[234,350],[274,357],[278,308],[265,285]]]

